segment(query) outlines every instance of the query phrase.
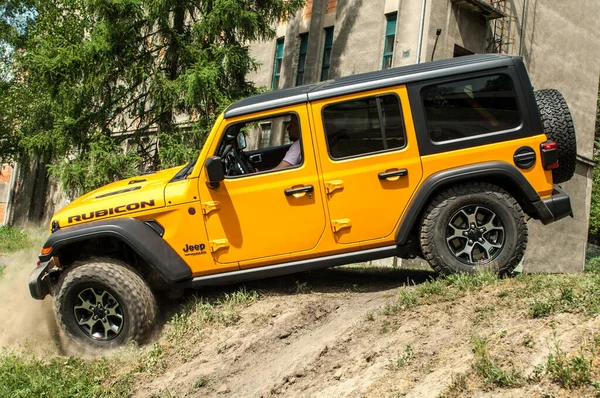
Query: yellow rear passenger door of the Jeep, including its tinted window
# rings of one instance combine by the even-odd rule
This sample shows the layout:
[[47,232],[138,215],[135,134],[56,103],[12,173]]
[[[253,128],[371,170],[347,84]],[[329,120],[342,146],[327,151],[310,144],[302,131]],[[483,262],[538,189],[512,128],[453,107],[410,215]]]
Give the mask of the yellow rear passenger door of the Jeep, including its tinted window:
[[336,241],[393,242],[423,174],[406,88],[314,102],[312,115]]

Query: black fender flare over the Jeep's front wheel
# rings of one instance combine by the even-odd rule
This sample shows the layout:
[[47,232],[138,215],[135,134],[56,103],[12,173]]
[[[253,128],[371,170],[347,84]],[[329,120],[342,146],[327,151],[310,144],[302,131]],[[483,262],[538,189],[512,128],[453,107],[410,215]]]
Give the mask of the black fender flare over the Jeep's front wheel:
[[44,243],[44,248],[51,250],[41,255],[40,261],[50,261],[67,244],[102,237],[116,238],[125,243],[168,283],[179,282],[192,275],[190,267],[177,252],[152,228],[135,218],[92,221],[60,229]]

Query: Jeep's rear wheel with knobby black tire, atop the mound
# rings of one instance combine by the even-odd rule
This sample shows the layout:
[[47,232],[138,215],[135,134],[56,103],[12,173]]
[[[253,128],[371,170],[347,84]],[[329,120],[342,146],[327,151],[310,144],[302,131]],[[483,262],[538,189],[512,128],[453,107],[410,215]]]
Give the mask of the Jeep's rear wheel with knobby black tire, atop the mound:
[[[470,209],[474,211],[474,219],[467,217]],[[477,217],[481,217],[481,221]],[[462,218],[467,221],[468,230],[456,227],[456,220]],[[476,229],[470,228],[473,225],[470,221],[475,221]],[[493,228],[490,223],[494,224]],[[486,226],[487,235],[480,232]],[[460,249],[465,232],[465,246]],[[481,234],[483,243],[478,243],[477,238],[470,240],[470,233]],[[447,240],[453,236],[454,239]],[[473,244],[467,246],[469,242]],[[458,249],[453,246],[455,243],[459,244]],[[474,251],[481,252],[484,244],[491,246],[492,243],[499,247],[485,249],[487,258],[473,260]],[[429,204],[421,221],[420,244],[427,262],[442,275],[472,274],[480,269],[505,275],[519,265],[525,254],[527,223],[519,203],[502,188],[484,182],[465,183],[442,191]],[[457,252],[464,250],[471,250],[466,254],[468,259],[457,256]]]

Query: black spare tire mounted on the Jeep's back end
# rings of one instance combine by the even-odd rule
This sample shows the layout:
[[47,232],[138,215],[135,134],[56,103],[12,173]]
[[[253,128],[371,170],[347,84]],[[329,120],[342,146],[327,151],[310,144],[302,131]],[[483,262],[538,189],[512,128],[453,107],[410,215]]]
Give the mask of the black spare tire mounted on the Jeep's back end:
[[552,179],[555,184],[569,181],[575,173],[577,141],[567,101],[555,89],[535,91],[534,95],[544,132],[558,146],[558,168],[552,170]]

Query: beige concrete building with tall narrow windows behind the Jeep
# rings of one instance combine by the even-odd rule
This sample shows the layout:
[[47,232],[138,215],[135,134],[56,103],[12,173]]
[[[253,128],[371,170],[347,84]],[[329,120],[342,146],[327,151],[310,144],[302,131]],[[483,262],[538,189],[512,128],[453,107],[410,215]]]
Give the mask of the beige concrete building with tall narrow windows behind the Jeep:
[[473,53],[521,55],[536,89],[565,96],[577,131],[576,174],[563,187],[574,219],[529,222],[524,269],[577,272],[587,240],[598,78],[598,0],[308,0],[277,37],[251,44],[272,89]]

